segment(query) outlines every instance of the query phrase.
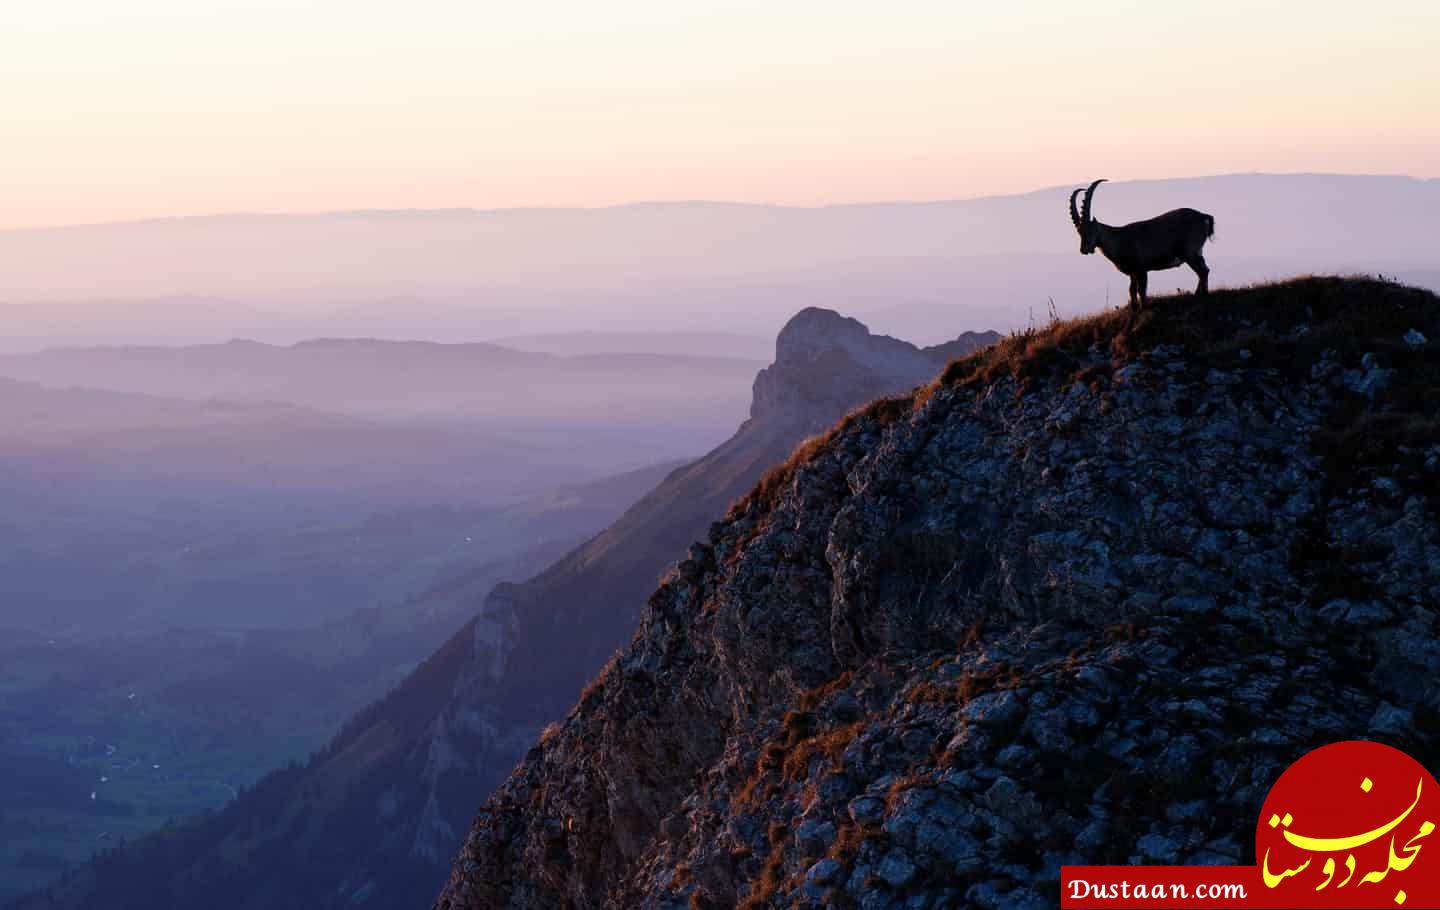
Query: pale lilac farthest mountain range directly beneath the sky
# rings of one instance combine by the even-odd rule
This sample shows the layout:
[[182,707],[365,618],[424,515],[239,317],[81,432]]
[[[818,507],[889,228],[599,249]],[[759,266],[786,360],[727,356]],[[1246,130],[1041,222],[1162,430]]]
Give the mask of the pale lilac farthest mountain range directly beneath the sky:
[[[1083,186],[1100,174],[1076,174]],[[481,341],[536,333],[773,333],[796,308],[926,343],[1097,310],[1123,278],[1083,258],[1070,186],[935,203],[226,215],[0,232],[0,338]],[[1436,284],[1440,181],[1233,174],[1100,187],[1109,223],[1215,216],[1214,281],[1384,272]],[[1174,278],[1172,278],[1174,275]],[[1161,289],[1189,284],[1156,275]],[[660,351],[658,346],[641,350]],[[719,348],[717,348],[719,350]]]

